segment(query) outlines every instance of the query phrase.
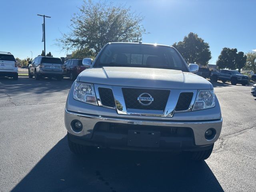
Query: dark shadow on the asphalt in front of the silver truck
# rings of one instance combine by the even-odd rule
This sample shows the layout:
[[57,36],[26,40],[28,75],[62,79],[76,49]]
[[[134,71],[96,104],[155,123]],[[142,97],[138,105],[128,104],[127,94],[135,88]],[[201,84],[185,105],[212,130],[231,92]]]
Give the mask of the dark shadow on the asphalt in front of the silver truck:
[[75,156],[60,140],[12,192],[223,191],[206,162],[161,152],[97,150]]

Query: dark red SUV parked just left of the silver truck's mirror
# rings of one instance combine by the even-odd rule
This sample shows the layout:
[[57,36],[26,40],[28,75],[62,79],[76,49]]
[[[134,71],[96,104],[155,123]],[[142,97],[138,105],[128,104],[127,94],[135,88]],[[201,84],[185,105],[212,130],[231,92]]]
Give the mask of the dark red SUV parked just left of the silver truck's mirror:
[[70,59],[63,65],[63,75],[68,76],[71,80],[75,80],[80,72],[87,68],[83,66],[82,59]]

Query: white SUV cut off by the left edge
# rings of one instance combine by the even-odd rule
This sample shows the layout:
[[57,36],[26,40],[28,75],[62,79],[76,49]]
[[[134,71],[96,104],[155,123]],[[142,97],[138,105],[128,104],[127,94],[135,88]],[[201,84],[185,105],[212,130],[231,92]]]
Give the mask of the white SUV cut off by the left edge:
[[18,63],[10,52],[0,51],[0,76],[18,80]]

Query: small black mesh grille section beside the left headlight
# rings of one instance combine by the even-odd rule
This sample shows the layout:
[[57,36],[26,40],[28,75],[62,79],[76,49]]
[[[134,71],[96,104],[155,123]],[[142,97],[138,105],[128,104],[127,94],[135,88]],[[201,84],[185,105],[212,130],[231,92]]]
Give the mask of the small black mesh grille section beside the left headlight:
[[98,91],[100,94],[100,100],[102,105],[108,106],[108,107],[116,106],[112,89],[99,87]]

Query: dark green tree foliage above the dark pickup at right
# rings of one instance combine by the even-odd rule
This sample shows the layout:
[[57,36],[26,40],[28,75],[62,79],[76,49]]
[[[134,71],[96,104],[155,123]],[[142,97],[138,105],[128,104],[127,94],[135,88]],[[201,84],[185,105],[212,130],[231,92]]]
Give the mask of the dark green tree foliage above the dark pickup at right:
[[236,70],[240,72],[241,68],[245,66],[246,55],[244,52],[238,52],[237,49],[230,49],[224,47],[220,52],[216,65],[220,69],[228,68],[231,70]]

